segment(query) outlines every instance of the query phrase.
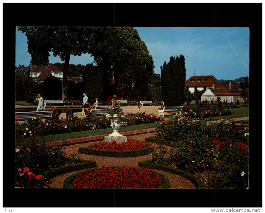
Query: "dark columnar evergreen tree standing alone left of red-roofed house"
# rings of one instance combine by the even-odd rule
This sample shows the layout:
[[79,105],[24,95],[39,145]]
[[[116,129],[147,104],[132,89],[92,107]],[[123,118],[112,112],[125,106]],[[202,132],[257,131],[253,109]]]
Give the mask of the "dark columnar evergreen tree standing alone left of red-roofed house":
[[181,106],[184,102],[186,79],[185,58],[171,56],[161,69],[161,95],[165,106]]

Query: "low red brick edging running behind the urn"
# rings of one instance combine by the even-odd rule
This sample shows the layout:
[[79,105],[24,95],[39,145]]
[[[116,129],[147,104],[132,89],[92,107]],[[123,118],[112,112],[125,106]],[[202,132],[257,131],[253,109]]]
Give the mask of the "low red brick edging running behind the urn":
[[[127,132],[119,132],[119,133],[121,135],[134,135],[134,134],[140,134],[140,133],[145,133],[145,132],[155,132],[155,131],[156,131],[156,127],[148,128],[148,129],[141,129],[141,130],[132,130],[132,131],[127,131]],[[91,142],[94,140],[104,139],[104,137],[108,135],[109,134],[92,135],[92,136],[87,136],[87,137],[51,141],[51,142],[48,142],[48,144],[50,146],[61,146],[61,145],[69,145],[69,144],[75,144],[75,143]]]

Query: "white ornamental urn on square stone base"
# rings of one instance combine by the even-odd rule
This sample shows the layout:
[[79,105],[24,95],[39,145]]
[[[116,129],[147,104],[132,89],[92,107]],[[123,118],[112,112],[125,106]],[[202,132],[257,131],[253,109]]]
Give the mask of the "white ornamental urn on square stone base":
[[120,116],[118,114],[114,114],[113,116],[110,116],[109,114],[106,115],[108,119],[111,120],[111,128],[113,132],[109,134],[108,136],[105,136],[105,141],[116,141],[117,143],[126,142],[127,137],[124,135],[121,135],[118,130],[121,127],[121,123],[124,116]]

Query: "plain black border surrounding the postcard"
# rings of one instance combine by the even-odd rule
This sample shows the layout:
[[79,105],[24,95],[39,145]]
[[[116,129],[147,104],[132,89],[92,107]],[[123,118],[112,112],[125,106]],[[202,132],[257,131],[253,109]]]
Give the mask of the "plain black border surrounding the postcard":
[[[13,88],[9,82],[5,84],[3,112],[6,108],[14,110],[8,102],[13,104],[14,101],[15,26],[22,25],[249,27],[250,70],[256,74],[250,82],[253,110],[254,93],[261,90],[255,85],[255,77],[259,78],[262,69],[258,66],[258,62],[262,62],[262,53],[258,51],[262,50],[262,3],[3,3],[3,65],[8,62],[11,70],[2,71],[13,74]],[[9,78],[3,78],[3,83],[6,81],[10,81]],[[12,94],[7,88],[11,88]],[[261,107],[258,110],[261,111]],[[13,119],[8,119],[13,113],[4,114],[8,115],[3,120],[5,130],[14,123]],[[262,144],[254,140],[254,135],[262,135],[258,129],[262,124],[254,118],[260,118],[260,114],[252,116],[250,185],[247,190],[77,189],[73,192],[71,189],[17,189],[11,166],[14,162],[13,140],[3,135],[3,207],[262,207]]]

